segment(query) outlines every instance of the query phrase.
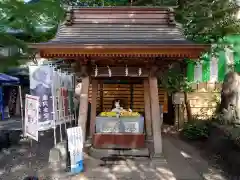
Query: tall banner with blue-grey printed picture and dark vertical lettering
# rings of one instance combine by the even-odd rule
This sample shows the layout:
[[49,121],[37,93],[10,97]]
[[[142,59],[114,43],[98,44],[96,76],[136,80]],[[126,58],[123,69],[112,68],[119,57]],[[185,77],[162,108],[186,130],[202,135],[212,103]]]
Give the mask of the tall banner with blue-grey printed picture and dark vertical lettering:
[[53,67],[48,65],[30,66],[30,93],[39,97],[39,131],[54,126],[53,118]]

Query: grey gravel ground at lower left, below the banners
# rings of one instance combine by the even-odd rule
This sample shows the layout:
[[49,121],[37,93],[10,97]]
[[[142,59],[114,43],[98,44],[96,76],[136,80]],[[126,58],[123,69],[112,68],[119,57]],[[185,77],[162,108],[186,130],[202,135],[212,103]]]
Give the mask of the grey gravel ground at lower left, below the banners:
[[[6,144],[6,143],[5,143]],[[53,132],[39,137],[39,142],[22,139],[0,152],[0,180],[23,180],[27,176],[47,178],[48,155],[53,147]]]

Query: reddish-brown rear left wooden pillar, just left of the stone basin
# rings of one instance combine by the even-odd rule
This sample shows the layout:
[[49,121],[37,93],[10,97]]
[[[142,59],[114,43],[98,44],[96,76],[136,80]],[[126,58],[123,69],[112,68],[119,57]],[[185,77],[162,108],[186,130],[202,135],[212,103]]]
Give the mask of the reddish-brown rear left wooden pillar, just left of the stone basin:
[[91,116],[90,116],[90,138],[95,133],[95,121],[97,112],[97,93],[98,93],[98,80],[92,80],[92,104],[91,104]]

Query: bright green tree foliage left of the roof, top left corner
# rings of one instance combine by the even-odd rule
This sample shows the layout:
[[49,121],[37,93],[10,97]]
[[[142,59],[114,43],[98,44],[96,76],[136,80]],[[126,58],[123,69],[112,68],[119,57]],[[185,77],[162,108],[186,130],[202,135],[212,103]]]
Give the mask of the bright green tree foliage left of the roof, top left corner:
[[[24,60],[31,56],[26,43],[52,38],[63,18],[64,10],[57,0],[30,3],[19,0],[0,1],[0,45],[21,49],[11,56],[0,56],[0,71],[24,63]],[[43,27],[46,27],[47,31],[44,31]]]

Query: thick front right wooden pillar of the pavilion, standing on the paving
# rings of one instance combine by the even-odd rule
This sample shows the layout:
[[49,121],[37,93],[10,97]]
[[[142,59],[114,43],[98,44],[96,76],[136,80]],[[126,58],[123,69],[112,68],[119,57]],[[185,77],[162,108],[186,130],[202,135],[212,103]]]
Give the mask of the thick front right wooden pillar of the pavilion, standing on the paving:
[[151,117],[154,143],[154,157],[159,157],[162,154],[162,117],[160,115],[160,106],[158,99],[158,82],[155,76],[149,77],[149,89],[151,100]]

